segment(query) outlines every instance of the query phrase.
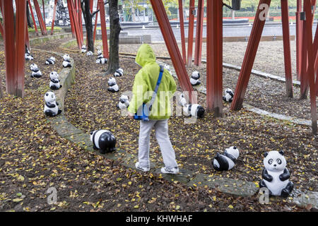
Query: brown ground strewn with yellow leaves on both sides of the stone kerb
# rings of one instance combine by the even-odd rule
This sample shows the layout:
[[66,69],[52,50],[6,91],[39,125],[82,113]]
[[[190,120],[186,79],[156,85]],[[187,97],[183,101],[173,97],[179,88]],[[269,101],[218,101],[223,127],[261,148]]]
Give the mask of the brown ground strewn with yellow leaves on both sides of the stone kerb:
[[[59,42],[60,43],[60,42]],[[131,90],[138,69],[133,59],[120,59],[124,76],[117,78],[120,92],[107,91],[105,66],[95,57],[60,49],[57,42],[37,48],[69,53],[76,64],[76,82],[66,96],[66,116],[84,131],[110,129],[117,147],[137,153],[139,125],[123,117],[116,108],[122,92]],[[44,66],[50,54],[34,51],[35,63],[45,75],[30,79],[30,62],[25,64],[25,97],[5,95],[0,100],[0,210],[1,211],[302,211],[286,201],[261,205],[257,196],[235,198],[207,187],[171,183],[152,173],[126,169],[120,162],[105,160],[61,138],[43,114],[43,95],[49,89],[48,73],[61,69]],[[4,52],[0,52],[0,76],[5,82]],[[5,87],[5,86],[4,86]],[[179,89],[179,88],[178,88]],[[205,96],[199,95],[204,105]],[[317,191],[317,137],[310,128],[259,117],[244,110],[224,117],[207,113],[196,124],[184,124],[185,117],[172,117],[170,138],[179,167],[219,177],[260,179],[262,153],[285,150],[291,180],[297,189]],[[315,140],[316,139],[316,140]],[[240,157],[235,169],[218,173],[211,167],[217,151],[237,145]],[[155,139],[151,160],[162,162]],[[47,189],[57,189],[57,204],[48,205]]]

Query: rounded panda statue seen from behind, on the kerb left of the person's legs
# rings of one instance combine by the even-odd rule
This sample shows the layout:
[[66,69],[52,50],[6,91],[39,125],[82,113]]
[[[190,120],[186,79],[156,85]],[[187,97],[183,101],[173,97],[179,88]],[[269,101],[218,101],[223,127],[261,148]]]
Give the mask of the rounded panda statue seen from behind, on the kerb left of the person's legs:
[[112,153],[116,150],[116,138],[108,130],[91,132],[90,141],[93,142],[93,148],[99,150],[101,154]]

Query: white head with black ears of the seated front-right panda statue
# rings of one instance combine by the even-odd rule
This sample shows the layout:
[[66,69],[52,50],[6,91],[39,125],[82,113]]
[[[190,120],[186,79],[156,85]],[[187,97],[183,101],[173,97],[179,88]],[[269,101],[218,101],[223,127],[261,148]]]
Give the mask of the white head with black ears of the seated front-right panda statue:
[[283,150],[264,153],[264,166],[269,171],[282,171],[286,167]]

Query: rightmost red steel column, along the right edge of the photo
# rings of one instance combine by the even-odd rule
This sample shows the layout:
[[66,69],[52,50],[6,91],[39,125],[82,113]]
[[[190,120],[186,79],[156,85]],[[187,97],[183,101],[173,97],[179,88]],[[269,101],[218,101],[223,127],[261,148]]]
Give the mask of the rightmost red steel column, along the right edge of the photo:
[[307,69],[307,80],[310,85],[310,105],[311,105],[311,116],[312,116],[312,133],[317,134],[317,104],[316,104],[316,89],[314,85],[314,55],[312,51],[312,6],[310,1],[304,2],[304,8],[306,13],[305,20],[305,32],[307,41],[307,52],[308,52],[308,69]]

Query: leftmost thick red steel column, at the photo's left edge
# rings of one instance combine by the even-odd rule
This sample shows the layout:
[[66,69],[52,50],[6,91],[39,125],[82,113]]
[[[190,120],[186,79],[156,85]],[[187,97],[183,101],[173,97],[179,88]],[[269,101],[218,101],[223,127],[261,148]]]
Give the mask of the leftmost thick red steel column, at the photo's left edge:
[[[1,0],[4,22],[4,56],[6,64],[6,93],[16,95],[15,43],[13,2]],[[24,54],[23,54],[24,55]]]

